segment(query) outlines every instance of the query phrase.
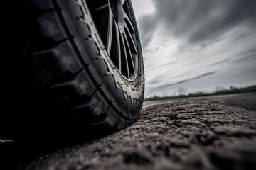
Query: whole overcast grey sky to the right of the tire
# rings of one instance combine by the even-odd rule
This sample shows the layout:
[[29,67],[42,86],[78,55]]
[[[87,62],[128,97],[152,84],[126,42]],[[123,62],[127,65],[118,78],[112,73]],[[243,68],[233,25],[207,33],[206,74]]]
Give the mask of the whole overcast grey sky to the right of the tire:
[[132,0],[145,96],[256,84],[255,0]]

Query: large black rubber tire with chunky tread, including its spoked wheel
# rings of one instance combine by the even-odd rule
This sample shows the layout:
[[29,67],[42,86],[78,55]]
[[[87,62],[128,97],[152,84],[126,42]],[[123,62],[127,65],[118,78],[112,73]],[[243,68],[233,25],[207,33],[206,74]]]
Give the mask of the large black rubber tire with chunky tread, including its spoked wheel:
[[[17,125],[23,124],[17,132],[43,125],[52,125],[50,130],[75,125],[117,131],[137,120],[144,100],[144,66],[132,4],[130,0],[97,1],[106,2],[108,7],[100,8],[108,8],[112,26],[122,28],[115,34],[112,30],[112,38],[107,34],[107,42],[104,32],[110,33],[110,24],[100,24],[105,15],[100,18],[90,0],[19,2],[23,13],[16,13],[23,23],[15,34],[21,41],[13,46],[18,53],[14,74],[19,86],[13,93],[23,110],[6,113],[18,116]],[[119,12],[112,13],[114,8]],[[122,26],[115,25],[115,20],[121,21],[120,11],[127,17]]]

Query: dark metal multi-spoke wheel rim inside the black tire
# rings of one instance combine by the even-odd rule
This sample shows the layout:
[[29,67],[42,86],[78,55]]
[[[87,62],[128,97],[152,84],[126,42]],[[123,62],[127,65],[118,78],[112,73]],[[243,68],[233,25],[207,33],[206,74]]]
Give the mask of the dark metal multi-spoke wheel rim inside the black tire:
[[125,79],[137,77],[137,41],[127,0],[87,0],[105,50]]

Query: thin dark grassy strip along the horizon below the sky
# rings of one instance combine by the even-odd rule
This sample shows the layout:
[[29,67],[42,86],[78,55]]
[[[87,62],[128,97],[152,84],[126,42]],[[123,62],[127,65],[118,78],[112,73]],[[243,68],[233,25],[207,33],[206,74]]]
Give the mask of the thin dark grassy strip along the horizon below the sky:
[[154,96],[151,98],[145,98],[144,101],[159,101],[159,100],[167,100],[167,99],[213,96],[213,95],[221,95],[221,94],[238,94],[238,93],[246,93],[246,92],[253,92],[253,91],[256,91],[256,86],[250,86],[250,87],[240,88],[240,89],[233,88],[228,90],[220,90],[220,91],[215,91],[213,93],[198,92],[198,93],[193,93],[188,95],[179,95],[179,96],[165,96],[165,97]]

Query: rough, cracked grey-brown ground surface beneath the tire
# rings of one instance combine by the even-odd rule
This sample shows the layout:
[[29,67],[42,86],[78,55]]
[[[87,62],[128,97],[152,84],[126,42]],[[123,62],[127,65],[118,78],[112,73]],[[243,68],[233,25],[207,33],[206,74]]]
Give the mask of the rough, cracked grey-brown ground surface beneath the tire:
[[42,154],[16,169],[256,169],[255,94],[240,94],[251,111],[244,104],[220,104],[238,102],[236,95],[207,99],[217,103],[144,103],[139,120],[128,128]]

